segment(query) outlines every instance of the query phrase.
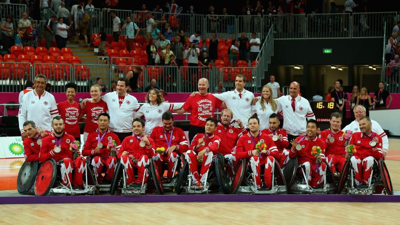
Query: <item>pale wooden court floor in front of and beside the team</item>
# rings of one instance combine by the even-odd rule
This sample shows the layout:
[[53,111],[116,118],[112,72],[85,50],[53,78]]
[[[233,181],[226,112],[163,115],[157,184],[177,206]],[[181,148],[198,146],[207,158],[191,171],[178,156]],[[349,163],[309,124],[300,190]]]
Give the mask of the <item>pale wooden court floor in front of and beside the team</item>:
[[[389,146],[385,162],[394,194],[400,195],[400,138],[389,138]],[[397,224],[400,217],[400,202],[1,204],[1,197],[18,195],[15,183],[22,162],[0,159],[0,224]]]

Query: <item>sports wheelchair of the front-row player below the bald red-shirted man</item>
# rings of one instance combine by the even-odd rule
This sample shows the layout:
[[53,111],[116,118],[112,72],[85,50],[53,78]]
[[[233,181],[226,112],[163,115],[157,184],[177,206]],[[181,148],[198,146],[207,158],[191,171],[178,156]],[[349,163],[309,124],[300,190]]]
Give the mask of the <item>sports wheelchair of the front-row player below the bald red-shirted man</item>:
[[[201,165],[199,165],[200,167]],[[177,194],[182,192],[187,194],[201,194],[209,192],[219,192],[222,190],[224,193],[229,192],[229,181],[224,168],[224,157],[222,154],[216,154],[211,162],[207,172],[207,178],[204,186],[192,185],[192,178],[189,175],[189,164],[184,160],[183,167],[177,175],[176,185],[174,191]]]

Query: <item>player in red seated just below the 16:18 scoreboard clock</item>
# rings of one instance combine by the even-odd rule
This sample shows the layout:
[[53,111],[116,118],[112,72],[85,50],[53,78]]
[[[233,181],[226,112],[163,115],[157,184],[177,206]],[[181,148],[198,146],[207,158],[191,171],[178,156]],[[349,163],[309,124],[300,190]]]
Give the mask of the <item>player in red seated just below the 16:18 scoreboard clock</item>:
[[344,148],[346,140],[343,137],[343,131],[340,130],[341,120],[340,112],[333,112],[330,114],[330,127],[320,133],[320,138],[325,140],[326,143],[326,161],[334,174],[338,174],[341,171],[346,161]]

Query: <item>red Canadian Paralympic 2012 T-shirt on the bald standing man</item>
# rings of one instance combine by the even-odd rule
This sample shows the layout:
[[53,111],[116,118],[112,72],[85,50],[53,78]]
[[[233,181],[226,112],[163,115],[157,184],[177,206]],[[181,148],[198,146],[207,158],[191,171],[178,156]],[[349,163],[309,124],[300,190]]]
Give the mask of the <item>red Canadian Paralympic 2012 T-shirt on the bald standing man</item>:
[[189,96],[182,108],[190,112],[190,125],[205,126],[205,119],[213,116],[215,108],[221,107],[221,103],[222,101],[213,94],[207,93],[205,96],[196,94],[194,97]]

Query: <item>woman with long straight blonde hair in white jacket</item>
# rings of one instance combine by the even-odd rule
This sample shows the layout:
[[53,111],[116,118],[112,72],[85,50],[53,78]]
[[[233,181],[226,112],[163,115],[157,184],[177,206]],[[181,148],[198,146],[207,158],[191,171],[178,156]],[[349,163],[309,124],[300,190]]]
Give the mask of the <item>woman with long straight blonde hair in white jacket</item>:
[[257,100],[255,105],[251,106],[251,112],[257,113],[259,118],[259,129],[269,128],[269,115],[277,112],[276,99],[272,97],[272,89],[268,85],[264,85],[261,90],[261,98]]

